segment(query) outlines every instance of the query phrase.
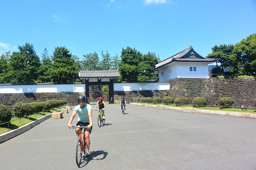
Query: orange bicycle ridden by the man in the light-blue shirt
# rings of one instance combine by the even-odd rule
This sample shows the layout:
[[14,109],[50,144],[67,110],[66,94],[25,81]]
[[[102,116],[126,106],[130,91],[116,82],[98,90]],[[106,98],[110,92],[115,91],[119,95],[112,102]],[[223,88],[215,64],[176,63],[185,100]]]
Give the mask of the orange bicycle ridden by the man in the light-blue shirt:
[[[85,128],[87,126],[72,126],[72,128],[80,128],[79,131],[79,136],[78,136],[78,140],[77,140],[77,145],[75,147],[75,160],[77,162],[77,166],[79,167],[81,165],[81,160],[82,160],[82,152],[84,152],[84,154],[86,155],[86,139],[85,139]],[[82,132],[83,129],[83,132]],[[82,138],[82,134],[83,134],[83,138]]]

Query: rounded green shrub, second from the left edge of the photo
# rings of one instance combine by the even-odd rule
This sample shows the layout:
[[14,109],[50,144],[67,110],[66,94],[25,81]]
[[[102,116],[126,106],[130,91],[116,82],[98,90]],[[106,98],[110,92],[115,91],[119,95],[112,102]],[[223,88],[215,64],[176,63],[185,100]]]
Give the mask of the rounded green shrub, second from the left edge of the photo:
[[33,107],[28,103],[16,103],[13,106],[13,113],[17,117],[24,117],[33,114]]

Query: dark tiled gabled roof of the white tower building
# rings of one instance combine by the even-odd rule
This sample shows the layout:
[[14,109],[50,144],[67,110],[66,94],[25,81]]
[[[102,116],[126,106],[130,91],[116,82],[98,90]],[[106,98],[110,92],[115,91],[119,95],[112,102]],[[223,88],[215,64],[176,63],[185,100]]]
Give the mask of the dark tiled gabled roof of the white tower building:
[[[189,55],[191,53],[191,55]],[[193,56],[192,58],[190,56]],[[186,50],[183,50],[173,56],[170,56],[169,58],[160,61],[157,65],[155,65],[155,69],[165,66],[167,64],[170,64],[171,62],[179,61],[179,62],[207,62],[207,63],[213,63],[215,62],[215,59],[209,59],[204,58],[203,56],[199,55],[192,46],[187,48]]]

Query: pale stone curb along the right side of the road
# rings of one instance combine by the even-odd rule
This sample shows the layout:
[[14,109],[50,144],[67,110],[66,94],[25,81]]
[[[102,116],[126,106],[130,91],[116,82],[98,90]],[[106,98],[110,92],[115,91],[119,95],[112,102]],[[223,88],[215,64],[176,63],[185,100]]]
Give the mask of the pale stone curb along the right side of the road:
[[[141,103],[130,103],[130,104],[136,104],[136,105],[142,105]],[[157,107],[157,105],[150,104],[151,107]],[[182,107],[172,107],[172,106],[166,106],[167,109],[175,109],[182,111]],[[252,113],[241,113],[241,112],[228,112],[228,111],[212,111],[212,110],[202,110],[197,109],[197,113],[209,113],[209,114],[220,114],[220,115],[229,115],[229,116],[236,116],[236,117],[248,117],[256,119],[256,114]]]

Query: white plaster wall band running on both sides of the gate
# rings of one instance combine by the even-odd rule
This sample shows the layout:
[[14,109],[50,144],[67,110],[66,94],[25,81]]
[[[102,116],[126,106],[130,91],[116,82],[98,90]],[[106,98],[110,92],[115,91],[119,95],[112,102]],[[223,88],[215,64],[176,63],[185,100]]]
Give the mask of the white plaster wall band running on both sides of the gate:
[[[169,90],[170,83],[114,83],[114,91]],[[0,85],[0,93],[85,92],[85,84]]]

